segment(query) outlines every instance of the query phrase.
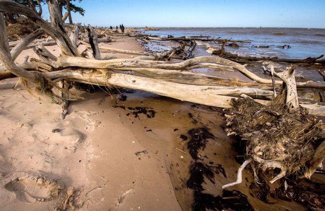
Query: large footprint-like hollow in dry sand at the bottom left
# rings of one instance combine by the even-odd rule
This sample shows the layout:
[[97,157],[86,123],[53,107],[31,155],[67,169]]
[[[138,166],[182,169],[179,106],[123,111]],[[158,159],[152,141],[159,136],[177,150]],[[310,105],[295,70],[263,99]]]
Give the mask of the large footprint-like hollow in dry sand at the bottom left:
[[44,202],[59,197],[61,185],[44,176],[19,176],[5,186],[5,189],[16,194],[19,201],[26,203]]

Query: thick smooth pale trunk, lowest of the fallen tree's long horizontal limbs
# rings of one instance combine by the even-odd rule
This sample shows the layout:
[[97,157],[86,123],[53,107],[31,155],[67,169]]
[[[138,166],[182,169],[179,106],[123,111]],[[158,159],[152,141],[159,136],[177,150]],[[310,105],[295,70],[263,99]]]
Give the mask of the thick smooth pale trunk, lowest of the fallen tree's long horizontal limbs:
[[[198,87],[194,85],[179,84],[120,73],[113,73],[110,75],[109,78],[107,76],[103,76],[103,74],[101,73],[96,74],[92,71],[77,72],[72,70],[66,70],[59,72],[47,72],[44,74],[51,79],[62,78],[101,86],[113,85],[117,87],[138,89],[170,98],[175,98],[181,101],[188,101],[207,106],[229,108],[231,107],[231,99],[234,98],[229,96],[217,95],[217,92],[213,89],[201,90],[199,89],[199,87],[201,86]],[[258,99],[255,99],[255,101],[264,105],[268,105],[270,103],[270,101]],[[315,105],[301,104],[300,106],[307,108],[311,114],[315,115],[313,112],[313,107]],[[317,114],[320,114],[320,116],[325,116],[325,106],[317,106],[319,107],[319,110],[323,111],[317,112]]]

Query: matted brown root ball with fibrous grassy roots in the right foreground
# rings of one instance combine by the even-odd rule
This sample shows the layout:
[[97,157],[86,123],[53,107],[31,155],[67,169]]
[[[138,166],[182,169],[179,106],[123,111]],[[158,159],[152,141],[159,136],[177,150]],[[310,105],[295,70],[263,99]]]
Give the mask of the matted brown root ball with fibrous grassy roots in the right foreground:
[[270,106],[249,98],[233,99],[231,115],[226,115],[230,129],[226,130],[248,140],[247,154],[263,170],[277,167],[285,175],[301,175],[307,170],[316,146],[325,138],[322,122],[303,109],[288,112],[282,105],[285,93]]

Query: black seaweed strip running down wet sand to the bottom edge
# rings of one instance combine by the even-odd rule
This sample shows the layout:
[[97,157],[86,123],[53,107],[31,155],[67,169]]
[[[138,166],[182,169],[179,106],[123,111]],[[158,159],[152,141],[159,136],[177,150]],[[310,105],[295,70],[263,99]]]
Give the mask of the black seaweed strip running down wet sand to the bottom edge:
[[[194,190],[194,202],[192,204],[193,211],[213,211],[236,210],[236,211],[253,211],[252,205],[248,202],[247,197],[239,191],[223,190],[222,197],[212,194],[202,193],[204,188],[204,176],[215,184],[214,174],[222,174],[226,177],[225,171],[221,165],[209,166],[201,162],[197,162],[198,150],[204,149],[208,139],[213,139],[215,136],[206,128],[191,129],[188,131],[191,137],[187,143],[190,155],[195,160],[195,163],[190,167],[190,177],[186,181],[187,188]],[[211,164],[211,163],[210,163]],[[214,172],[215,173],[214,173]]]

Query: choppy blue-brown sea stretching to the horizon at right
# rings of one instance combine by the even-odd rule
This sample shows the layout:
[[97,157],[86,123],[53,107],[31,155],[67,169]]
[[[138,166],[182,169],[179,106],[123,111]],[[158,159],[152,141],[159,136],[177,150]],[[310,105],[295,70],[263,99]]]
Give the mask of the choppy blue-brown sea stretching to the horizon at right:
[[[278,57],[289,59],[305,59],[325,54],[325,29],[307,28],[157,28],[158,31],[142,31],[147,35],[167,37],[210,36],[211,38],[245,40],[251,43],[238,43],[239,48],[226,47],[226,51],[241,56]],[[214,42],[199,45],[220,44]],[[252,46],[270,45],[269,48]],[[290,48],[275,46],[289,45]],[[168,47],[168,46],[167,46]],[[153,46],[157,48],[157,46]],[[162,48],[164,49],[164,48]],[[159,51],[159,50],[157,50]]]

